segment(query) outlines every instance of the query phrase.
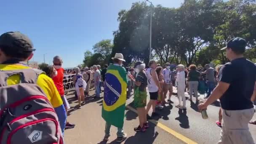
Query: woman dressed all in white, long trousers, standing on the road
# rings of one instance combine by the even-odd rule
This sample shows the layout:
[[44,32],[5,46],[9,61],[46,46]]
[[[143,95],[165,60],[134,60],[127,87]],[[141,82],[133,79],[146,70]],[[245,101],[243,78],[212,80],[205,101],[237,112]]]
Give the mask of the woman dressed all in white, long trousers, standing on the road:
[[[176,83],[177,83],[177,92],[178,92],[178,99],[179,99],[179,104],[175,107],[178,107],[179,109],[187,109],[186,108],[186,97],[185,97],[185,88],[186,88],[186,84],[185,84],[185,72],[184,72],[184,65],[179,64],[177,66],[178,68],[178,73],[177,73],[177,79],[176,79]],[[183,105],[181,105],[181,99],[183,101]]]

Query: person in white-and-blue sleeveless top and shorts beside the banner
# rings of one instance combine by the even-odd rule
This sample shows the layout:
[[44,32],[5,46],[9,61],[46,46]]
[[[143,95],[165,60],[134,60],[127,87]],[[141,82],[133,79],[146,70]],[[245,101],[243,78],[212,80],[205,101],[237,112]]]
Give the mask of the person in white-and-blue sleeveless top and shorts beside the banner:
[[75,67],[75,76],[73,80],[75,83],[75,91],[77,92],[77,99],[78,99],[78,109],[81,109],[81,100],[83,101],[82,104],[85,104],[85,94],[84,89],[86,85],[84,84],[83,76],[79,74],[80,69],[79,67]]

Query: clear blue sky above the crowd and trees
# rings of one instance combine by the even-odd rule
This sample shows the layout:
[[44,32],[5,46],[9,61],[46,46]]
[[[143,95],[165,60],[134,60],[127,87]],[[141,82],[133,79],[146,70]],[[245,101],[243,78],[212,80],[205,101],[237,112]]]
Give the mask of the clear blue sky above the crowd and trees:
[[[75,67],[83,54],[102,39],[113,39],[117,14],[140,0],[1,0],[0,34],[20,31],[34,43],[33,60],[49,64],[63,58],[64,67]],[[152,0],[154,5],[179,7],[183,0]]]

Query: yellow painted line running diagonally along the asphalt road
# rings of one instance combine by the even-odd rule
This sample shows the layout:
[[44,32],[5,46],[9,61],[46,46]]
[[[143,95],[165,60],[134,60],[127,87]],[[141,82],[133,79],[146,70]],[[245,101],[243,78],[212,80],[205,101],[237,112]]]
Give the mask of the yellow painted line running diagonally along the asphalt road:
[[[128,109],[130,109],[131,111],[135,112],[136,114],[138,114],[137,110],[134,109],[131,106],[126,106]],[[157,125],[159,128],[162,128],[164,131],[167,131],[168,133],[170,133],[171,135],[175,136],[176,138],[180,139],[181,141],[184,141],[187,144],[197,144],[197,142],[192,141],[191,139],[187,138],[186,136],[183,136],[182,134],[172,130],[171,128],[168,128],[167,126],[163,125],[162,123],[157,122],[156,120],[148,120],[151,123],[154,123],[155,125]]]

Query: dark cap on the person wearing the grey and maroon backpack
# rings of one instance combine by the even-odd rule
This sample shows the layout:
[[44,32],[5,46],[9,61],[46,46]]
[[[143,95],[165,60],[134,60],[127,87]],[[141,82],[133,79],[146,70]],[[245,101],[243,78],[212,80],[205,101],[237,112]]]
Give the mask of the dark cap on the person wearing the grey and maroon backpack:
[[6,46],[13,51],[35,51],[32,41],[20,32],[6,32],[0,36],[0,46]]

